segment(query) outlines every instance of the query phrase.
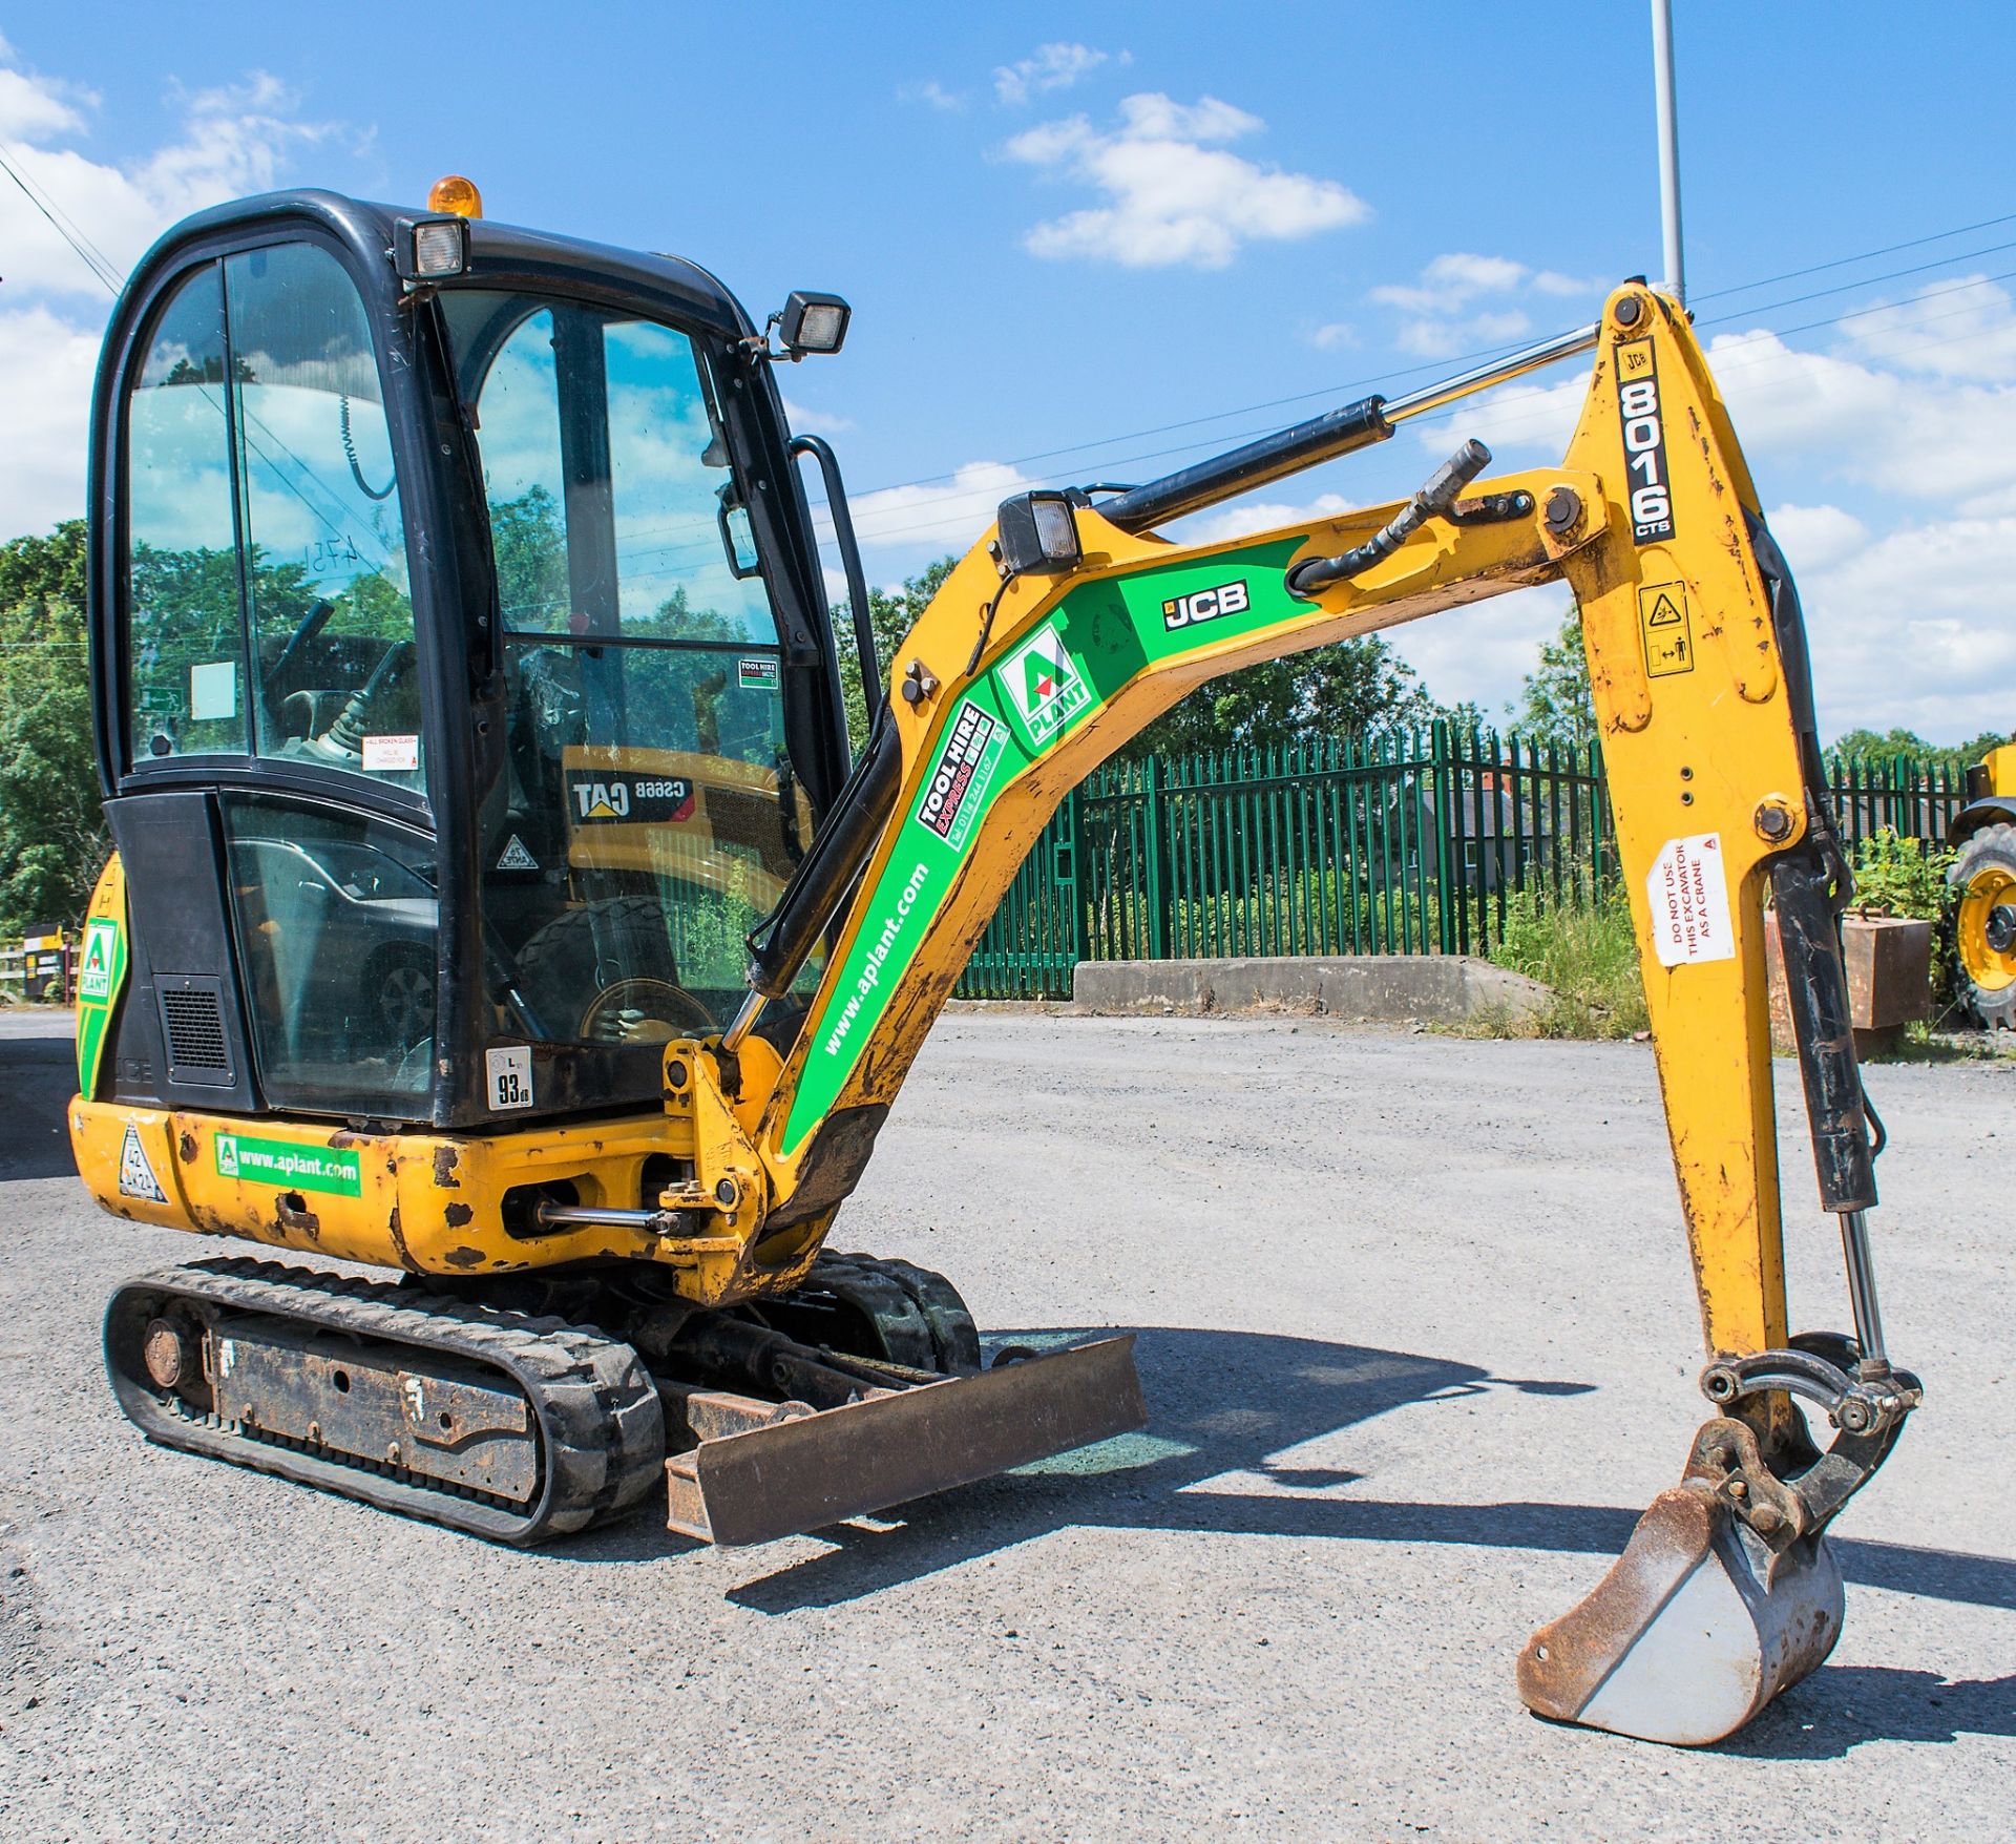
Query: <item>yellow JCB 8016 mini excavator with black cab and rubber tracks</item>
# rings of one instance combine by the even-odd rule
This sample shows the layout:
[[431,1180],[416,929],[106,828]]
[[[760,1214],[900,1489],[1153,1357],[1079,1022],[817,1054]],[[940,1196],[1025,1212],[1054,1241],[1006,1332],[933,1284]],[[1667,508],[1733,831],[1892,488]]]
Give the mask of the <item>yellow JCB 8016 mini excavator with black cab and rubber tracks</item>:
[[[262,1258],[117,1290],[121,1407],[510,1544],[651,1491],[756,1544],[1143,1425],[1127,1336],[982,1366],[952,1282],[825,1247],[931,1020],[1062,796],[1191,687],[1566,580],[1712,1415],[1518,1685],[1659,1741],[1740,1727],[1833,1649],[1824,1534],[1919,1385],[1877,1316],[1798,603],[1685,314],[1633,280],[1429,389],[1016,494],[891,661],[835,457],[776,385],[847,318],[800,292],[758,326],[687,262],[490,222],[466,181],[222,206],[133,272],[93,411],[117,857],[71,1133],[113,1215]],[[1163,530],[1579,355],[1558,468],[1482,478],[1466,441],[1403,504]],[[804,464],[887,687],[853,740]],[[1853,1336],[1786,1314],[1766,889]]]

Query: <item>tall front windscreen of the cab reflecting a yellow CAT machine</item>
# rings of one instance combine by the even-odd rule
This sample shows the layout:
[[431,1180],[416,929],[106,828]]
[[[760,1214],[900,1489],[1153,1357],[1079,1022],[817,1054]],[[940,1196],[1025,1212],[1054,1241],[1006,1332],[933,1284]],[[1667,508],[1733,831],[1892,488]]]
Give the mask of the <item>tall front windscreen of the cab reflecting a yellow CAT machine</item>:
[[589,1044],[720,1028],[812,812],[706,355],[575,302],[452,290],[442,306],[504,625],[510,768],[482,836],[508,1028]]

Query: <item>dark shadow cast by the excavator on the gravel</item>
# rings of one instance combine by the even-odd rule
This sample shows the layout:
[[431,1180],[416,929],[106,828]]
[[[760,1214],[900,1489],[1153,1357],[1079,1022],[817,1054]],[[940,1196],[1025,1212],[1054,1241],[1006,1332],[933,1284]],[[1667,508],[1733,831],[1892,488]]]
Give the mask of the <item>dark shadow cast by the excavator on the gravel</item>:
[[[1020,1332],[1000,1342],[1048,1346],[1085,1336],[1093,1334]],[[754,1574],[728,1598],[766,1614],[837,1606],[1066,1528],[1472,1544],[1609,1560],[1637,1524],[1637,1511],[1623,1505],[1339,1497],[1333,1487],[1359,1473],[1294,1463],[1296,1449],[1407,1405],[1488,1391],[1585,1395],[1595,1385],[1506,1378],[1454,1358],[1262,1332],[1145,1326],[1137,1340],[1151,1411],[1143,1433],[885,1518],[831,1526],[818,1532],[831,1550]],[[1855,1538],[1835,1546],[1849,1582],[2016,1610],[2016,1560]],[[556,1554],[625,1562],[689,1548],[700,1546],[639,1516],[560,1544]],[[1958,1733],[2016,1735],[2016,1679],[1943,1683],[1925,1671],[1824,1667],[1810,1689],[1768,1707],[1720,1747],[1820,1759],[1859,1741],[1951,1741]]]

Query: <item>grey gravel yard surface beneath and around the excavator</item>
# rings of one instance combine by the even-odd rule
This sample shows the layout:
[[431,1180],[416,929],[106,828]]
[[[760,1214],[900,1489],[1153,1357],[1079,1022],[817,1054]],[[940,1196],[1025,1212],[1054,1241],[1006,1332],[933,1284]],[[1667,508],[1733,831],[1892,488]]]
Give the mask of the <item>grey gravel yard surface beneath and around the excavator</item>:
[[62,1028],[0,1016],[0,1836],[2010,1836],[2008,1066],[1873,1074],[1929,1405],[1833,1663],[1677,1751],[1512,1691],[1702,1417],[1639,1046],[948,1018],[835,1241],[1139,1328],[1151,1431],[758,1552],[526,1556],[141,1443],[99,1312],[198,1245],[85,1203]]

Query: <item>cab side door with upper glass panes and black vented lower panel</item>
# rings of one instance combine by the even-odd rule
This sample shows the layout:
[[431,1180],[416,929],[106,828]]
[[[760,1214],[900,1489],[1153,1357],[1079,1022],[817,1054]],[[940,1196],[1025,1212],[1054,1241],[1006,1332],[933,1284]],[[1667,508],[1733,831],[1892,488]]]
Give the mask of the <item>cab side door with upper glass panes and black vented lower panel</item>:
[[337,246],[270,232],[192,252],[141,314],[111,482],[113,1092],[429,1118],[435,726],[371,316]]

